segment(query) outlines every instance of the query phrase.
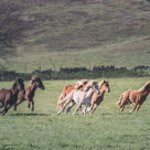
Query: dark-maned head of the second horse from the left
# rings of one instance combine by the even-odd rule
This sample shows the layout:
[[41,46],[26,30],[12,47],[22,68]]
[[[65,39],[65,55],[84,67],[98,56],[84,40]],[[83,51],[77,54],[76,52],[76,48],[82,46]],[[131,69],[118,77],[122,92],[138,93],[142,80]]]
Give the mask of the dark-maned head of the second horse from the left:
[[42,82],[41,78],[38,77],[38,76],[33,76],[33,77],[31,78],[31,81],[30,81],[30,84],[31,84],[31,85],[35,84],[36,87],[39,87],[39,88],[41,88],[41,89],[43,89],[43,90],[45,89],[45,87],[44,87],[44,85],[43,85],[43,82]]

